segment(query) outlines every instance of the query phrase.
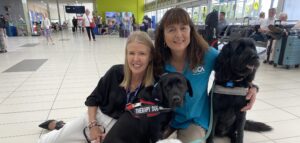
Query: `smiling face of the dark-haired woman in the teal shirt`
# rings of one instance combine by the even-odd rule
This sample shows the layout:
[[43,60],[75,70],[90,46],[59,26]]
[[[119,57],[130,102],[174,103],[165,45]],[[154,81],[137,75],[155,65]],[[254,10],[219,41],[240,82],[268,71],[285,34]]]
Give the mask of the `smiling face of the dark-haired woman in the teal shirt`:
[[171,24],[165,27],[165,42],[172,52],[184,52],[187,49],[190,31],[190,26],[184,24]]

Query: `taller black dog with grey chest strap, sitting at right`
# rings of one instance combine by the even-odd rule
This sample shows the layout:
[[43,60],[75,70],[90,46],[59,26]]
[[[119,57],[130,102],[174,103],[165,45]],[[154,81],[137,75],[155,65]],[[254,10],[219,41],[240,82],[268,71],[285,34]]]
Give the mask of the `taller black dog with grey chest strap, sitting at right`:
[[264,123],[246,121],[242,107],[247,91],[253,86],[255,73],[259,67],[259,57],[251,39],[229,42],[221,50],[215,64],[215,86],[212,91],[213,128],[208,143],[213,137],[227,136],[231,143],[243,143],[244,129],[269,131]]

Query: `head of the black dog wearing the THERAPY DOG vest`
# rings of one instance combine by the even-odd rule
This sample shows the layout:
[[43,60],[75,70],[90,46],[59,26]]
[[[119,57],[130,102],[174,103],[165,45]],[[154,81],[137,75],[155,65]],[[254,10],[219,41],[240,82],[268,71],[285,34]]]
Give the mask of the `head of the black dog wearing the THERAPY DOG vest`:
[[175,108],[182,105],[186,92],[193,96],[190,82],[180,73],[166,73],[154,85],[152,96],[163,107]]

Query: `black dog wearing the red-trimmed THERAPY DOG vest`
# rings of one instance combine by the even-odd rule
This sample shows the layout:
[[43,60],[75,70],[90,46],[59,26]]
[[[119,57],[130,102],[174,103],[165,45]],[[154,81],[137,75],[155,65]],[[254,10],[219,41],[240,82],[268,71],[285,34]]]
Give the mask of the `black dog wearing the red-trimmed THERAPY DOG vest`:
[[[156,85],[140,91],[139,103],[127,105],[127,112],[108,132],[104,143],[155,143],[171,120],[172,113],[165,111],[182,105],[187,91],[192,96],[191,85],[182,74],[163,75]],[[144,106],[133,108],[139,104]]]

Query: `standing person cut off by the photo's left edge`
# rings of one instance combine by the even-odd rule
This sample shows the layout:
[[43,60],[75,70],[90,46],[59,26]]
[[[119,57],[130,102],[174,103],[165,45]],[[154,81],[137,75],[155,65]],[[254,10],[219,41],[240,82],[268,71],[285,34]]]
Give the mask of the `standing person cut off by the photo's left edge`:
[[6,53],[7,52],[7,35],[6,35],[6,21],[4,19],[4,16],[0,15],[0,53]]

